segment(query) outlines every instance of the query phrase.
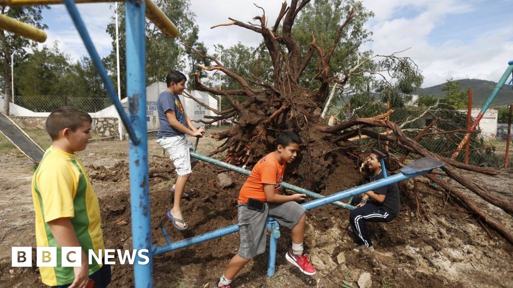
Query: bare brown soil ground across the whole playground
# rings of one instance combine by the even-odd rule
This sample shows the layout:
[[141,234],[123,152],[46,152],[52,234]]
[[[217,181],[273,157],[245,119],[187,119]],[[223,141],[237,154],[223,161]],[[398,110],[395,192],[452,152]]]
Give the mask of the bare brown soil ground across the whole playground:
[[[160,221],[171,205],[170,184],[175,175],[170,160],[149,139],[150,200],[152,225]],[[200,140],[198,151],[206,154],[217,143]],[[30,181],[32,166],[12,149],[0,152],[0,287],[43,287],[35,265],[12,268],[11,247],[32,246],[34,216]],[[127,141],[92,142],[78,154],[100,198],[102,228],[107,249],[130,249],[130,195]],[[175,230],[169,220],[164,225],[172,241],[212,231],[236,223],[236,198],[245,176],[229,173],[234,185],[216,186],[219,169],[206,163],[196,166],[183,201],[190,226]],[[362,181],[356,166],[342,162],[326,186],[316,192],[330,194]],[[492,192],[513,199],[511,170],[498,170],[497,176],[468,173]],[[287,179],[285,179],[287,180]],[[300,183],[295,183],[299,184]],[[371,287],[513,287],[513,246],[497,233],[483,229],[477,219],[431,185],[418,184],[425,213],[419,215],[412,181],[403,185],[400,216],[388,224],[371,224],[376,252],[352,252],[353,236],[348,232],[349,212],[332,205],[308,212],[306,246],[317,267],[314,276],[301,274],[285,260],[290,233],[281,230],[277,269],[267,278],[267,253],[253,259],[234,280],[235,287],[358,287],[367,272]],[[473,197],[479,200],[478,197]],[[513,221],[495,207],[483,209],[513,231]],[[160,230],[152,230],[153,243],[166,244]],[[222,275],[228,260],[239,246],[237,233],[206,241],[153,258],[155,287],[204,287]],[[112,287],[132,287],[130,265],[113,265]],[[345,285],[345,286],[344,286]]]

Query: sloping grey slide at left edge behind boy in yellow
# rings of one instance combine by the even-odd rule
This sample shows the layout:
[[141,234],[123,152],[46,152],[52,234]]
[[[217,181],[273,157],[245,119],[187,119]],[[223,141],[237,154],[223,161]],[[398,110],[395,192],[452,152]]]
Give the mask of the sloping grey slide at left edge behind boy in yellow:
[[43,159],[45,150],[32,140],[14,121],[0,111],[0,133],[16,148],[27,156],[32,163],[39,163]]

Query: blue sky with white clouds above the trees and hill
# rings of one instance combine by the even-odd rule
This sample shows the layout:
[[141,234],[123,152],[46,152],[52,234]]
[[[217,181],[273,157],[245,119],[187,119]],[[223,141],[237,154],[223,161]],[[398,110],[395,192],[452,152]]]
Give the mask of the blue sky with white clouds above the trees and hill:
[[[191,10],[200,27],[200,41],[213,52],[214,44],[225,47],[241,42],[257,45],[259,34],[239,27],[212,25],[228,22],[228,17],[249,21],[263,7],[269,23],[274,23],[278,0],[191,0]],[[411,57],[425,77],[423,87],[446,79],[479,78],[498,81],[513,60],[511,0],[364,0],[375,16],[367,23],[373,32],[366,45],[376,54],[402,51]],[[111,51],[111,38],[105,32],[113,16],[110,4],[81,4],[89,33],[101,56]],[[78,59],[87,52],[63,5],[43,13],[48,25],[46,45],[58,41],[60,49]],[[269,24],[271,26],[272,24]]]

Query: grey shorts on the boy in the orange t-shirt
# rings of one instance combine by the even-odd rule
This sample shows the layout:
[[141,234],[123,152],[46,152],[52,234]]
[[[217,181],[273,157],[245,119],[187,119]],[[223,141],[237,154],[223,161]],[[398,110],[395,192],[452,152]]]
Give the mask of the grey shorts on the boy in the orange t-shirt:
[[272,216],[281,226],[289,229],[301,219],[306,210],[298,202],[266,203],[264,212],[250,210],[246,205],[239,205],[239,235],[241,245],[239,256],[251,259],[265,252],[267,242],[267,216]]

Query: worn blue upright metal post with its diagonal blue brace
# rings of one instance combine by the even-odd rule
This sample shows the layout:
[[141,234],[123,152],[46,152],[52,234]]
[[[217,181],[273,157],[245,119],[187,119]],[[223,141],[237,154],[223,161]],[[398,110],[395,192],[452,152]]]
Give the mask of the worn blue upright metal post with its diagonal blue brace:
[[131,0],[125,3],[129,118],[117,98],[114,86],[100,55],[94,48],[75,2],[64,0],[64,3],[130,138],[130,200],[133,248],[137,250],[147,249],[150,252],[148,255],[149,263],[145,265],[138,264],[140,258],[137,254],[134,264],[135,287],[153,287],[148,187],[148,136],[146,128],[146,51],[144,38],[146,5],[142,0]]

